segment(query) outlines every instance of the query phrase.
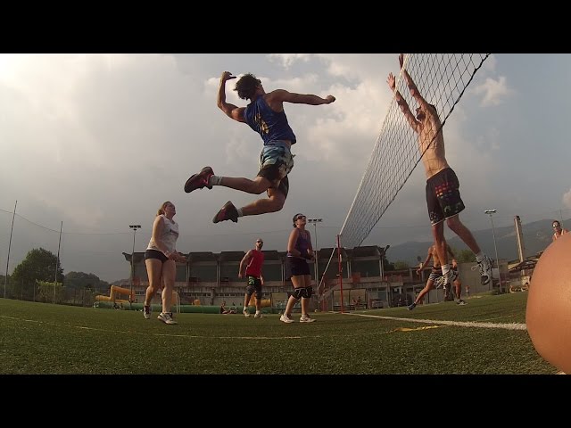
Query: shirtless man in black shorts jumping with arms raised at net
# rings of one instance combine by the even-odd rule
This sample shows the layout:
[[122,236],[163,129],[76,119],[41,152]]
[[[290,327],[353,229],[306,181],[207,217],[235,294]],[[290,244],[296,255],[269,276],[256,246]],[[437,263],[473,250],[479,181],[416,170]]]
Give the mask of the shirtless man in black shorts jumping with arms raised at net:
[[448,165],[444,150],[444,137],[442,122],[433,104],[426,102],[418,92],[418,87],[410,78],[409,72],[402,68],[404,55],[399,56],[402,76],[410,94],[417,101],[417,115],[412,114],[409,104],[404,100],[401,93],[396,90],[393,73],[389,73],[387,83],[394,93],[396,103],[408,120],[410,128],[418,134],[418,149],[422,156],[422,162],[426,171],[426,204],[428,216],[434,235],[435,252],[442,263],[444,284],[450,284],[453,280],[448,254],[446,253],[446,241],[444,240],[444,220],[452,232],[468,245],[476,254],[476,262],[480,268],[482,284],[488,284],[492,280],[492,259],[484,255],[476,243],[474,235],[464,226],[459,218],[459,213],[464,210],[464,202],[460,198],[459,180],[454,171]]

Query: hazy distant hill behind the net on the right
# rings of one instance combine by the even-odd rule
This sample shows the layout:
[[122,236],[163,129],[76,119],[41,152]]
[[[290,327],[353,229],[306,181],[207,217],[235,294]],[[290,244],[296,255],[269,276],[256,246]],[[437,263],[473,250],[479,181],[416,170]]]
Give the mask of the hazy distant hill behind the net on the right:
[[[553,234],[551,228],[552,221],[553,219],[545,219],[522,224],[526,257],[545,250],[551,243],[551,235]],[[562,224],[564,227],[569,225],[569,220],[563,220]],[[516,226],[494,227],[494,229],[496,244],[498,246],[498,257],[508,260],[517,259]],[[450,235],[450,232],[447,231],[446,234]],[[492,259],[495,259],[492,228],[472,231],[472,234],[482,250]],[[448,243],[455,250],[468,250],[466,244],[456,235],[449,239]],[[386,258],[391,262],[403,260],[407,261],[410,266],[416,266],[418,265],[417,257],[420,256],[420,258],[424,260],[426,258],[426,251],[431,244],[430,242],[409,242],[401,243],[400,245],[391,245],[391,248],[386,252]]]

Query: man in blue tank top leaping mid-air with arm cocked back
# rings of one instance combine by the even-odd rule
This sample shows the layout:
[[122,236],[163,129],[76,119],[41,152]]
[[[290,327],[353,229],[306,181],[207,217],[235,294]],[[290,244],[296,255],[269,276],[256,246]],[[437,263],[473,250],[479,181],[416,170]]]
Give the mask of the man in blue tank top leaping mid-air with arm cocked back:
[[267,212],[276,212],[284,207],[289,191],[287,174],[294,168],[292,144],[296,143],[294,131],[290,128],[284,111],[284,102],[295,104],[321,105],[335,101],[335,96],[303,95],[276,89],[268,94],[261,85],[261,80],[252,74],[245,74],[236,82],[234,90],[243,100],[250,100],[246,107],[237,107],[226,102],[226,82],[236,78],[232,73],[224,71],[220,77],[218,106],[221,111],[238,122],[243,122],[260,134],[264,146],[260,154],[260,170],[253,180],[244,177],[215,176],[211,167],[204,167],[198,174],[186,180],[185,192],[213,185],[223,185],[246,193],[268,193],[268,198],[259,199],[236,209],[230,201],[212,218],[212,222],[224,220],[237,222],[239,217],[255,216]]

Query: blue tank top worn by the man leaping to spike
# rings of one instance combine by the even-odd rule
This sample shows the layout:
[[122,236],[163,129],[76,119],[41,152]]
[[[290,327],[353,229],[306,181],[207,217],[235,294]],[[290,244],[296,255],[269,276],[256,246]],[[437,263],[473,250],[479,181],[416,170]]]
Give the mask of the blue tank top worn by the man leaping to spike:
[[244,119],[250,128],[260,134],[264,145],[279,140],[289,140],[295,144],[295,134],[287,123],[285,111],[271,110],[263,96],[246,106]]

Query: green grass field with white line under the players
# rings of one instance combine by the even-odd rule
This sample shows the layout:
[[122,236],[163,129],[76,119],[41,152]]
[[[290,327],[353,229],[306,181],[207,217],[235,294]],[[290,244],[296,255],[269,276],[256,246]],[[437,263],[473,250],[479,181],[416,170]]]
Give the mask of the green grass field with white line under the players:
[[406,308],[242,315],[0,299],[0,374],[555,374],[525,330],[526,292]]

